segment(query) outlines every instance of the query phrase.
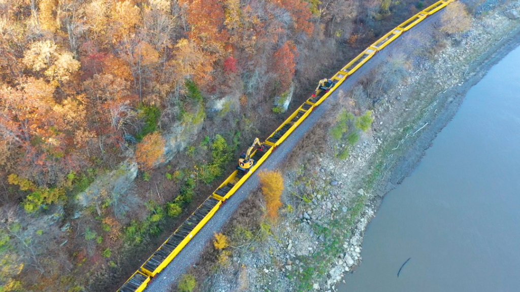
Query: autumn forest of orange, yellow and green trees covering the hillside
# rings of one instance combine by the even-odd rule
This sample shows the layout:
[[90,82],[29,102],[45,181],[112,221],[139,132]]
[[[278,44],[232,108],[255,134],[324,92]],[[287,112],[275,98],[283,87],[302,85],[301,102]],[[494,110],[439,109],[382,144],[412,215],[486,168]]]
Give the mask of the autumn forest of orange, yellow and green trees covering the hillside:
[[[275,100],[305,98],[411,3],[0,0],[0,291],[124,282],[136,267],[123,255],[151,242],[148,255],[272,131],[287,110]],[[163,135],[183,125],[201,127],[166,165]],[[134,192],[76,202],[127,160]]]

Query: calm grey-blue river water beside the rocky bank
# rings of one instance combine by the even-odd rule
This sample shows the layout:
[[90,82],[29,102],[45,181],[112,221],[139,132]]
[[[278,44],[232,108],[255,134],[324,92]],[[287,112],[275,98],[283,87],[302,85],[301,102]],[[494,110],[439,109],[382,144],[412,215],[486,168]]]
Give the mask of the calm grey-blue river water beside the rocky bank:
[[467,92],[385,196],[338,291],[520,291],[519,69],[516,48]]

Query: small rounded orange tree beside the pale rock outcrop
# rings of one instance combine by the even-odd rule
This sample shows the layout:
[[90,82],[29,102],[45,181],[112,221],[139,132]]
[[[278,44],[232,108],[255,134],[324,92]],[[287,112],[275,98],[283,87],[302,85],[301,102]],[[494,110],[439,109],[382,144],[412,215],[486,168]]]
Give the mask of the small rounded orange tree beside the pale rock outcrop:
[[164,161],[163,153],[166,141],[158,132],[145,136],[137,144],[135,158],[141,169],[151,169],[155,164]]

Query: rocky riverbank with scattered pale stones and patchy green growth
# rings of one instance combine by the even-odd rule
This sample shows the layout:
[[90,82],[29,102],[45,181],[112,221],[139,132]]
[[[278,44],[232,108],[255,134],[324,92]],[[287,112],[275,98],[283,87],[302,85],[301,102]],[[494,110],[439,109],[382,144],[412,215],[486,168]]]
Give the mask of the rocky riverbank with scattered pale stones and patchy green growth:
[[[300,157],[300,166],[286,176],[287,216],[270,227],[263,241],[232,248],[230,261],[199,289],[330,291],[352,272],[362,258],[363,233],[384,194],[419,163],[466,91],[520,44],[520,22],[503,14],[518,5],[514,1],[480,14],[469,31],[457,36],[446,37],[437,25],[428,25],[393,44],[388,63],[402,60],[397,65],[407,74],[375,103],[372,130],[354,146],[327,138]],[[358,81],[363,86],[371,82]],[[349,97],[352,91],[340,92],[339,100]],[[330,125],[322,121],[315,129]],[[342,148],[350,150],[345,161],[336,157]]]

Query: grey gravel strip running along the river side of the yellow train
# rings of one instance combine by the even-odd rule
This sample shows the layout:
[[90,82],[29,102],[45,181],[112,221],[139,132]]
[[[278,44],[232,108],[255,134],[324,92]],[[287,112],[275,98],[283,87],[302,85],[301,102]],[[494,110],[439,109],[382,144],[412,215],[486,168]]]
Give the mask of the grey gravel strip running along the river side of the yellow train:
[[[442,13],[437,13],[428,17],[410,31],[401,35],[396,41],[388,45],[383,51],[372,57],[363,67],[361,67],[354,75],[350,76],[343,84],[336,89],[306,120],[298,126],[292,134],[273,152],[269,158],[262,164],[259,170],[274,169],[285,160],[288,153],[302,139],[310,128],[316,124],[325,114],[331,105],[337,100],[340,90],[348,91],[363,76],[366,76],[371,69],[375,68],[382,62],[386,62],[392,53],[403,52],[409,49],[417,48],[420,43],[421,31],[431,29],[435,21]],[[348,60],[345,60],[347,63]],[[256,171],[256,172],[257,172]],[[170,286],[177,280],[179,275],[183,274],[194,262],[197,261],[200,253],[204,249],[207,242],[213,239],[214,232],[219,232],[233,212],[238,208],[240,203],[258,187],[258,176],[255,174],[242,185],[242,187],[227,200],[226,204],[220,207],[213,218],[194,236],[193,240],[173,259],[173,261],[153,280],[150,282],[145,292],[168,292]]]

